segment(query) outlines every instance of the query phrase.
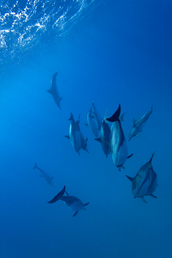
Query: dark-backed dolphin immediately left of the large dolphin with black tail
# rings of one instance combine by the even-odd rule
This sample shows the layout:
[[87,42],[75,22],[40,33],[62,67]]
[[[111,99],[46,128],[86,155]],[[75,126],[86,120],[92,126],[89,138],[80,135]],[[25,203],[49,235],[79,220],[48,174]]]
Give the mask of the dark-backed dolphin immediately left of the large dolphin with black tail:
[[94,139],[94,140],[101,143],[101,147],[102,147],[102,149],[104,151],[104,154],[106,155],[106,158],[107,158],[107,155],[111,152],[111,147],[109,146],[109,144],[107,144],[107,142],[111,141],[112,133],[111,133],[110,127],[108,125],[108,121],[106,120],[106,118],[107,118],[106,114],[107,114],[107,109],[106,109],[105,116],[104,116],[104,119],[103,119],[103,122],[102,122],[102,125],[101,125],[100,138],[97,138],[97,139]]

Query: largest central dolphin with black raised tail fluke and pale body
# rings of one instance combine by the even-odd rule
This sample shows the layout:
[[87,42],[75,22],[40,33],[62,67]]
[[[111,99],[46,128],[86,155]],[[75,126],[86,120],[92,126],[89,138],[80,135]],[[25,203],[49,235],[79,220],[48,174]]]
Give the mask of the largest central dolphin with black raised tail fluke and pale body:
[[[119,104],[118,109],[110,118],[106,120],[109,122],[114,122],[112,127],[112,139],[109,142],[109,146],[111,147],[111,154],[114,164],[121,171],[121,167],[124,168],[124,163],[126,159],[130,158],[128,155],[127,144],[124,136],[124,132],[122,130],[121,121],[119,119],[121,113],[121,106]],[[108,143],[108,142],[107,142]]]

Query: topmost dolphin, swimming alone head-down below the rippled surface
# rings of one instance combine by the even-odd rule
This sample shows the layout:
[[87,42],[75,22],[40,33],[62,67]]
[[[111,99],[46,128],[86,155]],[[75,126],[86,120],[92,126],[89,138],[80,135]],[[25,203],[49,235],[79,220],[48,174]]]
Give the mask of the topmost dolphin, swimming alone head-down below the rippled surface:
[[53,77],[51,79],[51,84],[50,84],[50,90],[47,90],[47,91],[52,95],[54,101],[57,104],[57,107],[59,107],[59,109],[61,110],[60,101],[62,100],[62,97],[60,98],[58,88],[57,88],[57,84],[56,84],[57,74],[58,74],[58,71],[55,72],[55,74],[53,74]]

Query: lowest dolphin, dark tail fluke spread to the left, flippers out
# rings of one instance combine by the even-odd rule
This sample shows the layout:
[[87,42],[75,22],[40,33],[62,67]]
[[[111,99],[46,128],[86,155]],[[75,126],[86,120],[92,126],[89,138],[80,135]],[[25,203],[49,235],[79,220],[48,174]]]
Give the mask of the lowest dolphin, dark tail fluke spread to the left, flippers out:
[[[76,211],[73,215],[76,216],[79,211],[82,209],[86,211],[85,206],[87,206],[89,203],[83,204],[80,199],[78,199],[75,196],[68,195],[68,193],[65,191],[66,187],[64,186],[63,190],[60,191],[51,201],[47,201],[47,203],[55,203],[58,200],[64,201],[64,203],[74,211]],[[67,196],[63,196],[64,193],[66,192]]]

